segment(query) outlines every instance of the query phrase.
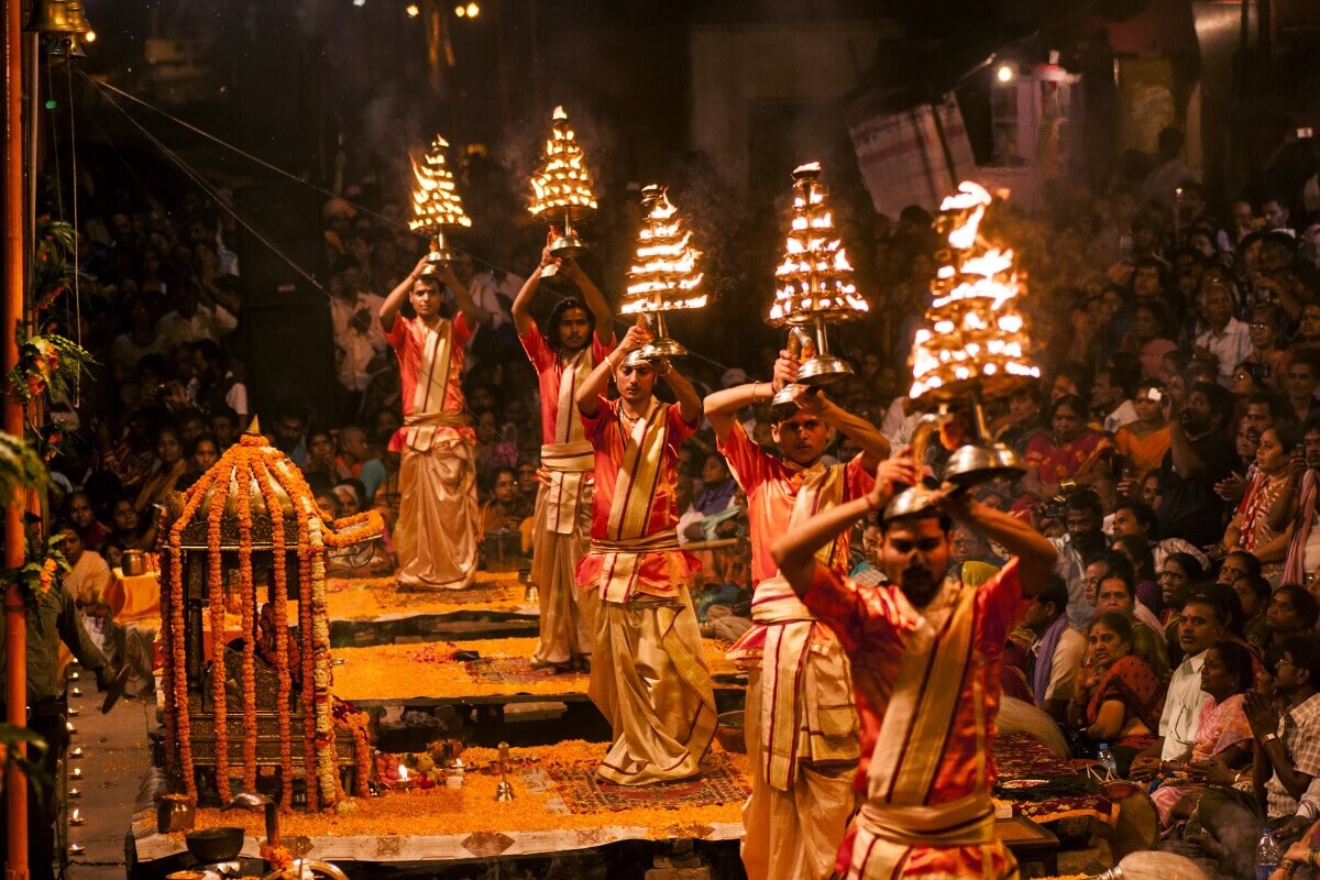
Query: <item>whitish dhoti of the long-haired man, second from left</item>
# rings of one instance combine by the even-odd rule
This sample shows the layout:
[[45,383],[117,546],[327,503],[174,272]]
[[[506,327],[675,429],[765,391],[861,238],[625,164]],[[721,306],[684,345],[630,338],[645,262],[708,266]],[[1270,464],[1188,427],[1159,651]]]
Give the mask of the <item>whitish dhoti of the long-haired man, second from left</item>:
[[532,662],[564,665],[591,656],[597,598],[577,586],[591,534],[590,443],[541,447],[541,488],[532,525],[532,582],[540,596],[540,641]]

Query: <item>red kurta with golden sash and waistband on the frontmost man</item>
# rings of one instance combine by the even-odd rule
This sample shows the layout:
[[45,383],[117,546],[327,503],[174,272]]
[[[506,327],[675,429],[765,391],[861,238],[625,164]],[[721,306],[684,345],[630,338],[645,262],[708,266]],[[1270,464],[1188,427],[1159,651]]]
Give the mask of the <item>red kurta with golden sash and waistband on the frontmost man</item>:
[[866,802],[840,848],[850,879],[1012,877],[994,836],[999,666],[1019,616],[1012,559],[986,583],[949,579],[923,610],[896,586],[816,567],[804,602],[853,661]]

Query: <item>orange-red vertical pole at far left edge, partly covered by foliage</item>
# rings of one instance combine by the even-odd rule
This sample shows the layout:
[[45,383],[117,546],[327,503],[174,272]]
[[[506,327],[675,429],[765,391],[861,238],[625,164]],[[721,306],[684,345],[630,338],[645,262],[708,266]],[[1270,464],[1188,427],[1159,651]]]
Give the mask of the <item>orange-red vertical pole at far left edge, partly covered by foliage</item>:
[[[22,321],[24,255],[22,255],[22,22],[21,0],[5,0],[4,18],[4,193],[3,228],[4,252],[0,257],[4,301],[0,319],[0,369],[8,375],[18,363],[18,346],[13,338]],[[4,429],[22,437],[22,406],[4,402]],[[4,565],[22,566],[22,511],[24,499],[4,499]],[[28,619],[24,613],[22,591],[17,583],[5,584],[5,710],[7,720],[18,727],[28,726]],[[22,748],[21,745],[17,748]],[[28,778],[11,768],[5,780],[5,806],[8,822],[5,835],[9,860],[7,880],[28,879]]]

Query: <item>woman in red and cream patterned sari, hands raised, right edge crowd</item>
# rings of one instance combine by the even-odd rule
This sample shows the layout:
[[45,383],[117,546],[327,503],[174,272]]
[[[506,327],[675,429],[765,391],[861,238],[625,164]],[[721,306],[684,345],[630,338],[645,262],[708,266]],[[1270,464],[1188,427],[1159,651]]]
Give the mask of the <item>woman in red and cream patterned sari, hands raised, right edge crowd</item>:
[[1300,441],[1302,431],[1288,422],[1279,422],[1261,434],[1261,445],[1255,451],[1255,475],[1224,532],[1224,549],[1254,555],[1261,561],[1261,574],[1271,583],[1278,583],[1283,574],[1288,536],[1270,528],[1270,511],[1288,488],[1288,466],[1292,450]]

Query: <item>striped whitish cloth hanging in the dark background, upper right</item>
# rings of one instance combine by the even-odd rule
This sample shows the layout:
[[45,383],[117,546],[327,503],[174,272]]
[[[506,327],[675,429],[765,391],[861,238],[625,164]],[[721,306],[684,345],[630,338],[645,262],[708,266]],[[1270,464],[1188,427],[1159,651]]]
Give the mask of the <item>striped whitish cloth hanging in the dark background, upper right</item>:
[[[962,125],[962,112],[953,95],[940,106],[940,121],[954,173],[960,181],[974,179],[975,160],[968,141],[968,129]],[[873,116],[851,125],[849,132],[862,179],[871,193],[871,203],[880,214],[898,218],[908,204],[935,211],[944,197],[954,191],[956,185],[949,179],[949,161],[940,145],[932,106],[921,104],[899,113]]]

